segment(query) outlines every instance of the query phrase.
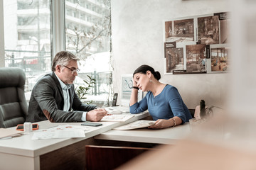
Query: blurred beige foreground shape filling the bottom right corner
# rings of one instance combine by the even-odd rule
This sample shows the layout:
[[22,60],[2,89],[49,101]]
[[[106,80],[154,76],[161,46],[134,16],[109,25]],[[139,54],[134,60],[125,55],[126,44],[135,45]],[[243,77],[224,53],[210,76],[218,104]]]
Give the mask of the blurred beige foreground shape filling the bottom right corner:
[[256,135],[247,131],[256,125],[217,114],[193,128],[191,135],[176,145],[161,145],[119,169],[256,169]]

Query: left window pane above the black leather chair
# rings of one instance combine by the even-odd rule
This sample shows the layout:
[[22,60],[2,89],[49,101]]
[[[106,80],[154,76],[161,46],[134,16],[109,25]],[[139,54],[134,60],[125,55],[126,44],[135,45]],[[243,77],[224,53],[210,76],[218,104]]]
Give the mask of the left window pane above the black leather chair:
[[50,72],[50,0],[4,0],[5,67],[26,73],[26,99],[36,79]]

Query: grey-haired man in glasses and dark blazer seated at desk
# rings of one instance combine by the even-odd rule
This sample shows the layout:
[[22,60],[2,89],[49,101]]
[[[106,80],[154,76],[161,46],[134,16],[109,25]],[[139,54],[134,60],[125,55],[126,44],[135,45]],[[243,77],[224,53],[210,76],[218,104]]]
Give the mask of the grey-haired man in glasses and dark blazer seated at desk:
[[75,94],[73,82],[78,76],[78,60],[78,57],[68,51],[55,55],[53,72],[46,74],[33,87],[26,122],[100,121],[107,115],[104,108],[86,105]]

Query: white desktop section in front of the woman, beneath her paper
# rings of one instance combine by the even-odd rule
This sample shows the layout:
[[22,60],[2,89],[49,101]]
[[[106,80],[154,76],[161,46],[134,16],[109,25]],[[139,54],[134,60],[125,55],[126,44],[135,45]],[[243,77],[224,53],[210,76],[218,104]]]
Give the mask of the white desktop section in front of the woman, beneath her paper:
[[127,142],[146,142],[157,144],[175,144],[191,133],[189,123],[174,128],[152,130],[148,128],[135,130],[110,130],[95,136],[97,140],[118,140]]

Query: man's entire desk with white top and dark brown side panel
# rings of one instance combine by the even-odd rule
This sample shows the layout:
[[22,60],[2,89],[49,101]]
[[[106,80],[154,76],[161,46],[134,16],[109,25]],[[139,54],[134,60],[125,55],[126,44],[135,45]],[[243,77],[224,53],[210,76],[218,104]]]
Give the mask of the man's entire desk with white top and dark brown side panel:
[[[100,127],[88,127],[85,137],[52,140],[31,140],[32,134],[0,140],[1,169],[85,169],[85,145],[93,145],[93,137],[120,125],[148,116],[139,113],[127,122],[102,122]],[[38,122],[39,129],[56,125],[81,123]],[[72,162],[70,164],[70,162]]]

